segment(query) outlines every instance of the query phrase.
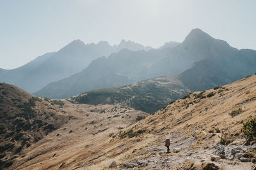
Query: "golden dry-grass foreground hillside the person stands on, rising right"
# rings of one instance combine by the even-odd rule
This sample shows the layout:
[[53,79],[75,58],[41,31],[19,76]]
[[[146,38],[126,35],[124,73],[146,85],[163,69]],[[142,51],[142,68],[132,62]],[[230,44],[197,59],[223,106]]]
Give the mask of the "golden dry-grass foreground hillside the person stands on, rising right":
[[[108,169],[115,160],[119,169],[125,169],[124,166],[138,169],[203,169],[207,166],[251,169],[253,163],[246,162],[250,161],[246,154],[254,152],[255,145],[244,145],[241,128],[243,122],[256,116],[255,85],[256,75],[253,75],[215,89],[193,92],[140,122],[124,129],[100,132],[95,138],[93,134],[90,139],[81,135],[90,122],[67,125],[67,129],[52,132],[42,143],[33,145],[30,151],[24,150],[26,155],[17,159],[12,167]],[[233,112],[237,114],[231,116]],[[76,134],[71,133],[72,137],[67,133],[71,129],[77,129]],[[168,154],[164,146],[166,132],[171,134],[171,153]],[[56,134],[60,134],[61,139],[56,138]],[[86,138],[88,140],[84,142]],[[227,146],[220,145],[220,139]],[[225,155],[220,157],[218,151],[221,147],[225,148]],[[37,157],[33,156],[36,154]]]

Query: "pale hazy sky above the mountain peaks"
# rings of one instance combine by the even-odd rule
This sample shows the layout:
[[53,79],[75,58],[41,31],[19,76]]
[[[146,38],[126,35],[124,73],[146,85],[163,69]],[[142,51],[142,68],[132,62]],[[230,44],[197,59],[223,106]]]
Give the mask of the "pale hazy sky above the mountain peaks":
[[22,66],[74,39],[157,48],[200,28],[256,50],[255,0],[0,0],[0,68]]

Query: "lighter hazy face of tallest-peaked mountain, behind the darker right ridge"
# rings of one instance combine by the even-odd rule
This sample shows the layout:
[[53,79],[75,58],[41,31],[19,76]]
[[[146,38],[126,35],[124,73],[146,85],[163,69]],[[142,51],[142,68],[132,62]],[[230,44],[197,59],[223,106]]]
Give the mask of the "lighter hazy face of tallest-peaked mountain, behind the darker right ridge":
[[[194,62],[232,56],[237,51],[225,41],[214,39],[200,29],[194,29],[180,45],[148,52],[121,50],[110,55],[108,59],[97,60],[88,66],[100,70],[99,74],[91,73],[92,69],[86,68],[65,80],[50,83],[35,94],[61,99],[89,90],[127,85],[129,82],[134,83],[159,76],[173,76],[186,71]],[[109,80],[115,82],[111,81],[110,84],[106,82],[106,77],[102,77],[102,73],[108,73]],[[120,75],[120,79],[116,79],[116,75]],[[100,84],[100,87],[97,84]]]

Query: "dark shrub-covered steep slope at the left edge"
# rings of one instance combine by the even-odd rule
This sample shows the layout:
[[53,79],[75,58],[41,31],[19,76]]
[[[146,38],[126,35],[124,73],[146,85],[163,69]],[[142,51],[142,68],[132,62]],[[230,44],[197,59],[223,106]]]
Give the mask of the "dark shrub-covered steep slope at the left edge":
[[67,122],[68,117],[58,111],[63,104],[0,83],[0,169],[13,163],[13,155]]

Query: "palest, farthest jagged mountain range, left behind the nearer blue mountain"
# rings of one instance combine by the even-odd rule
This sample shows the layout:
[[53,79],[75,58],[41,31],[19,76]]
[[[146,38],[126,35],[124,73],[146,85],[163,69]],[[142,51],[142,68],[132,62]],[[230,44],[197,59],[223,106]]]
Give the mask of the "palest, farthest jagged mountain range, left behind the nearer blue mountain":
[[102,56],[108,57],[122,48],[134,51],[151,49],[132,41],[122,40],[119,45],[110,46],[106,41],[85,45],[77,39],[58,52],[46,53],[17,69],[0,69],[0,81],[12,83],[28,92],[36,92],[52,81],[79,73],[92,60]]

